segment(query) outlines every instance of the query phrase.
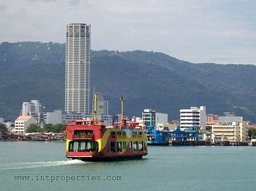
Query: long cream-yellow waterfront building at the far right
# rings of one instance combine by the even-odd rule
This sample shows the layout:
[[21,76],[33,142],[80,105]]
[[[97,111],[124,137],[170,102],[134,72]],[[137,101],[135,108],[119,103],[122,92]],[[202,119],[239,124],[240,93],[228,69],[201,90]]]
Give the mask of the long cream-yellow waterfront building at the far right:
[[227,139],[232,142],[248,141],[248,127],[246,122],[229,122],[212,125],[214,139]]

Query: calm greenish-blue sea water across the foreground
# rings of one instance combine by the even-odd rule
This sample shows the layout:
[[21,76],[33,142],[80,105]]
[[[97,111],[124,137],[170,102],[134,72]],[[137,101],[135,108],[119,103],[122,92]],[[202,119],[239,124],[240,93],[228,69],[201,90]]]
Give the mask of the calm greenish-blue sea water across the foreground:
[[0,190],[255,191],[256,147],[148,146],[142,160],[81,162],[64,142],[0,141]]

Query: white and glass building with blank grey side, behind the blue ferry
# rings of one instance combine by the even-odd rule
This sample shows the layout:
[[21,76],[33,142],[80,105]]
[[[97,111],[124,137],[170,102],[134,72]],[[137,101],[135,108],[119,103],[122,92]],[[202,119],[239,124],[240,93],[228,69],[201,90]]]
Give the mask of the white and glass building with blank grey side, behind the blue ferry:
[[142,112],[142,120],[146,126],[154,126],[156,130],[159,130],[160,124],[168,123],[168,114],[159,113],[152,109],[144,109]]

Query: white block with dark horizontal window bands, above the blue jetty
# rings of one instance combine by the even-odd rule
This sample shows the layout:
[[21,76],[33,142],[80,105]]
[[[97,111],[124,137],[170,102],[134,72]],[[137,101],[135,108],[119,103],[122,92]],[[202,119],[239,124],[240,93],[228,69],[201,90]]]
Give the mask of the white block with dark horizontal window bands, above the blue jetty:
[[180,109],[180,127],[200,127],[202,130],[205,130],[205,116],[205,106]]

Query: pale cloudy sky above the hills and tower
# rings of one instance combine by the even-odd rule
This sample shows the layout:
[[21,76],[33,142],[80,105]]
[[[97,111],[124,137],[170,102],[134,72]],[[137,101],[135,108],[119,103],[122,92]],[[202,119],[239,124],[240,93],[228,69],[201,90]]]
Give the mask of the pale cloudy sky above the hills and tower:
[[256,65],[255,10],[247,0],[0,0],[0,42],[64,43],[68,23],[86,23],[93,50]]

